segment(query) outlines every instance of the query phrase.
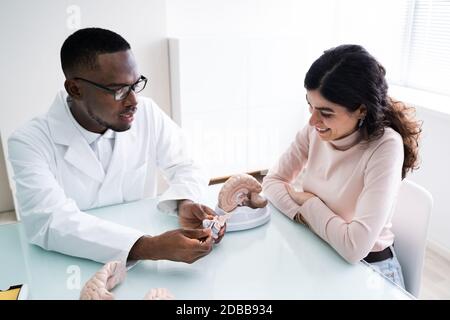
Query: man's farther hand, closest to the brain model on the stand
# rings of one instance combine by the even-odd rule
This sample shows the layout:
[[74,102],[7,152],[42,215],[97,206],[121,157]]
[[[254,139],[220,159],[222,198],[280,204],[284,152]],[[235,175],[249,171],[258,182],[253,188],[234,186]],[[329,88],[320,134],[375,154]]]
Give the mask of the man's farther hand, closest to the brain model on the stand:
[[[216,216],[216,213],[203,204],[194,203],[191,200],[180,200],[178,202],[178,220],[183,228],[203,228],[203,220],[212,220],[214,216]],[[222,240],[225,230],[226,224],[220,229],[215,243],[219,243]]]

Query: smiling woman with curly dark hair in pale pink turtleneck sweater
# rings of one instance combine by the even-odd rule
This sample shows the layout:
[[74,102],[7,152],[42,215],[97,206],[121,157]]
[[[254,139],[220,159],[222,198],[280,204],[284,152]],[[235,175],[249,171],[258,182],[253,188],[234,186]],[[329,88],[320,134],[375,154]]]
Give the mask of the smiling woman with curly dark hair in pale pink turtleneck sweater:
[[417,167],[421,129],[414,110],[387,95],[385,74],[361,46],[325,51],[305,77],[309,124],[263,190],[348,262],[364,259],[403,286],[391,217],[402,179]]

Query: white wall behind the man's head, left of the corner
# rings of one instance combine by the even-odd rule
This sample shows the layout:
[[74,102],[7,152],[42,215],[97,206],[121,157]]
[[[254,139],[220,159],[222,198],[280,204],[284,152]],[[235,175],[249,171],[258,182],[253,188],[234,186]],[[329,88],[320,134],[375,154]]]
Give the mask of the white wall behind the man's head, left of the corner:
[[[57,90],[64,88],[59,50],[77,26],[103,27],[121,34],[130,43],[141,73],[150,79],[143,94],[151,96],[169,113],[165,19],[164,0],[2,0],[0,133],[3,146],[15,128],[46,112]],[[12,209],[8,189],[4,164],[0,161],[0,212]]]

